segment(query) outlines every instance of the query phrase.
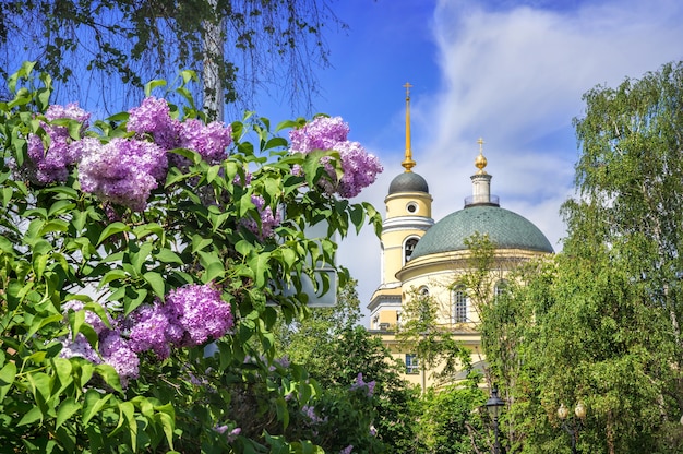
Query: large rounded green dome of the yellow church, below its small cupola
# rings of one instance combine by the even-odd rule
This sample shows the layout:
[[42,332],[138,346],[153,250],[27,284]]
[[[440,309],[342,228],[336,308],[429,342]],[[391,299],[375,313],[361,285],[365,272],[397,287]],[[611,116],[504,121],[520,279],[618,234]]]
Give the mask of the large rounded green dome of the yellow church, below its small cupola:
[[475,232],[489,234],[498,249],[553,252],[548,238],[523,216],[500,206],[472,205],[451,213],[427,230],[410,260],[439,252],[467,250],[465,240]]

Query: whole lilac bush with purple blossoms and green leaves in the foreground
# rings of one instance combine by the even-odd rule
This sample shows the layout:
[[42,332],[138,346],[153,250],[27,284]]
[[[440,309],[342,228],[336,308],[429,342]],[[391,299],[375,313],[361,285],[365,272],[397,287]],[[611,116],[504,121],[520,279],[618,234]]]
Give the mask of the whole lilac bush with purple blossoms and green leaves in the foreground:
[[[11,346],[0,354],[0,410],[20,415],[0,418],[0,445],[301,452],[327,443],[312,439],[301,409],[320,409],[316,425],[335,416],[303,367],[275,360],[272,330],[280,311],[304,312],[297,284],[312,264],[335,262],[334,240],[302,229],[324,214],[343,238],[368,220],[379,226],[376,212],[292,176],[296,166],[317,176],[325,162],[289,154],[266,119],[205,123],[182,118],[195,115],[192,103],[148,96],[89,129],[77,105],[48,107],[50,88],[33,91],[31,68],[10,88],[15,99],[0,103],[0,344]],[[338,148],[358,164],[329,194],[372,179],[340,119],[309,130],[304,147]]]

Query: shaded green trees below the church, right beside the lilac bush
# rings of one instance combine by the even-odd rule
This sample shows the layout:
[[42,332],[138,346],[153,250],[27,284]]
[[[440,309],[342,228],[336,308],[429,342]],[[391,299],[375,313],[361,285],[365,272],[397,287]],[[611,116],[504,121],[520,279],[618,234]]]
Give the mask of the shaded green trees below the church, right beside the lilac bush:
[[[322,389],[338,390],[334,405],[339,408],[347,407],[345,390],[360,377],[363,382],[373,382],[372,401],[364,411],[374,415],[371,429],[386,452],[422,452],[417,425],[421,413],[419,390],[400,378],[403,365],[392,358],[381,338],[358,325],[361,313],[356,280],[342,286],[335,307],[309,312],[305,319],[277,330],[281,355],[304,365]],[[345,437],[342,427],[333,432]]]

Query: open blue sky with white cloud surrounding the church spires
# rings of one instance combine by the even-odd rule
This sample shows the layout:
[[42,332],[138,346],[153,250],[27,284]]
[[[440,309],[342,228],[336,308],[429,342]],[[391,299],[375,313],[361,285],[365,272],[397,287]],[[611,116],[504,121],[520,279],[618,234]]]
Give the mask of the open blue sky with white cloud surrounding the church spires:
[[[572,119],[582,95],[683,60],[678,0],[343,0],[349,25],[329,34],[332,69],[320,73],[316,111],[342,116],[349,139],[384,172],[357,201],[382,213],[403,171],[405,88],[411,88],[414,169],[430,186],[435,220],[463,208],[486,141],[491,191],[561,250],[560,205],[573,195],[578,148]],[[264,103],[272,119],[290,116]],[[340,246],[363,306],[380,283],[380,241],[367,229]]]

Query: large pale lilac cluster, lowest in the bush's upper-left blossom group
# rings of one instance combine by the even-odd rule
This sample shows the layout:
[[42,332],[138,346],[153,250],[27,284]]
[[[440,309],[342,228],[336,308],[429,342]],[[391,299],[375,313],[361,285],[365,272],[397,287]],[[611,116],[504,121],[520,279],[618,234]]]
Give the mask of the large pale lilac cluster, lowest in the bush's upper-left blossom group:
[[158,181],[166,176],[166,152],[158,145],[140,140],[115,138],[108,144],[84,146],[79,166],[79,181],[84,192],[103,200],[143,211]]

